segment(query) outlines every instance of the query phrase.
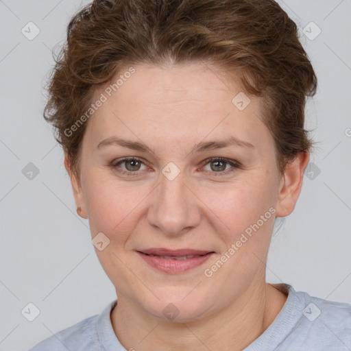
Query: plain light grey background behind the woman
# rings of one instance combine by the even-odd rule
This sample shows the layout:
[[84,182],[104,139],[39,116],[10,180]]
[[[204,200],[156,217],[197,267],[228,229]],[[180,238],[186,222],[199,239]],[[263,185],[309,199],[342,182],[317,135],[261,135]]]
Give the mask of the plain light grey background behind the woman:
[[[88,220],[75,213],[62,150],[42,117],[51,49],[85,3],[0,0],[1,351],[27,350],[115,298]],[[267,281],[351,303],[351,1],[279,3],[298,23],[319,78],[306,106],[306,126],[318,145],[294,213],[278,223]],[[40,29],[33,40],[21,32],[29,21]],[[317,34],[311,21],[322,30],[313,40],[302,31]],[[32,179],[29,162],[39,171]],[[21,313],[29,302],[40,310],[33,322]]]

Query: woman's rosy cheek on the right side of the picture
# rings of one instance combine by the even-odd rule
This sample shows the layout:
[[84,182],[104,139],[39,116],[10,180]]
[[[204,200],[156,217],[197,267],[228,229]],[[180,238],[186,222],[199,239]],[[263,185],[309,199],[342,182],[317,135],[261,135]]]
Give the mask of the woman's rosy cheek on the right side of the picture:
[[225,244],[223,252],[234,245],[230,257],[235,257],[232,263],[240,262],[238,267],[250,267],[252,259],[256,260],[252,253],[263,258],[268,250],[274,227],[274,189],[273,180],[256,174],[225,188],[204,189],[200,195],[216,215],[213,228]]

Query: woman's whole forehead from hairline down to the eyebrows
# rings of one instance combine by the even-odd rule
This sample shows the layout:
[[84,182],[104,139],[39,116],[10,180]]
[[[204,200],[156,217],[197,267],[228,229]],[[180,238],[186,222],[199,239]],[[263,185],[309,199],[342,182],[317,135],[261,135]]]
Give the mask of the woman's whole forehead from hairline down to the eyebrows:
[[93,102],[104,95],[104,103],[88,121],[86,134],[94,144],[113,134],[181,144],[208,134],[254,141],[268,132],[261,99],[245,95],[233,73],[201,62],[132,68],[95,90]]

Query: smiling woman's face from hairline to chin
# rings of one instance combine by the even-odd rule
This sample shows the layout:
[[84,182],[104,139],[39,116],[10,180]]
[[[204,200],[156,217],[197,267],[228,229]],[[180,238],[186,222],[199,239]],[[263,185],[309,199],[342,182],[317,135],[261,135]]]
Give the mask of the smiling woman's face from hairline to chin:
[[233,103],[242,89],[224,71],[134,69],[110,97],[109,84],[95,91],[107,100],[88,121],[75,199],[109,240],[95,250],[119,300],[195,320],[264,280],[284,178],[263,101]]

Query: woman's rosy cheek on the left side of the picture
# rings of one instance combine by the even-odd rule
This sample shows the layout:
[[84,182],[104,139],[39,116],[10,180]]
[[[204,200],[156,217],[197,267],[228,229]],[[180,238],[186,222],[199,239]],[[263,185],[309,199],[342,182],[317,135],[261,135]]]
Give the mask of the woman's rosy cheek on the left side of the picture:
[[115,286],[117,282],[121,285],[121,281],[130,280],[130,271],[126,269],[130,266],[129,258],[125,256],[126,243],[138,223],[137,216],[147,189],[126,182],[121,185],[120,181],[106,177],[102,171],[87,174],[86,184],[89,186],[84,198],[91,236],[103,232],[110,240],[104,250],[95,249],[95,252],[110,280]]

